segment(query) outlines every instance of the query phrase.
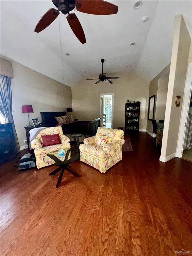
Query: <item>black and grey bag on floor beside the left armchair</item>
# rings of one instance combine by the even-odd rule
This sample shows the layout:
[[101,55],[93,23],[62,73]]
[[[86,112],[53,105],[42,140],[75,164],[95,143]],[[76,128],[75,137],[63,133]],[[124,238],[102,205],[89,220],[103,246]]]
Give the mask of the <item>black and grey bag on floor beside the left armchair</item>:
[[36,168],[35,155],[30,153],[25,154],[19,160],[19,164],[15,164],[18,167],[19,171],[26,171],[32,168]]

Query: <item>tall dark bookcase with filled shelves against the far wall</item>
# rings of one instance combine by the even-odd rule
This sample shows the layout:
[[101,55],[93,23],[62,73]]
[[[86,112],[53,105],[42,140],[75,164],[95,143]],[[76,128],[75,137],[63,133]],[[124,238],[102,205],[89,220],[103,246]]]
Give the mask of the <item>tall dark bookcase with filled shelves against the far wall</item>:
[[139,132],[140,102],[125,103],[125,133]]

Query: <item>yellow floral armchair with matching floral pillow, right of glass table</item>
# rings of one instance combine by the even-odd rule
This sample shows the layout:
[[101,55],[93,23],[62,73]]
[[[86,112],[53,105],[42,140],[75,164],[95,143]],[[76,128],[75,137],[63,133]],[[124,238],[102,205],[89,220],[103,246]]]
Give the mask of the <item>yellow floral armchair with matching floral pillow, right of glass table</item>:
[[122,145],[125,143],[124,131],[99,127],[93,137],[84,139],[79,146],[82,153],[80,161],[105,173],[122,160]]

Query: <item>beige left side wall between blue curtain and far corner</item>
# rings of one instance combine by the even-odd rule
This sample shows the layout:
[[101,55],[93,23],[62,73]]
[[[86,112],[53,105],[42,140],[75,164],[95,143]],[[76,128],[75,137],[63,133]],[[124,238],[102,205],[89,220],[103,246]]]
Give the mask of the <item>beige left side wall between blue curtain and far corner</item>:
[[65,111],[72,107],[71,88],[42,75],[15,61],[12,62],[14,78],[11,79],[12,109],[20,147],[26,139],[24,127],[28,125],[27,114],[22,114],[22,105],[32,105],[31,118],[41,122],[41,111]]

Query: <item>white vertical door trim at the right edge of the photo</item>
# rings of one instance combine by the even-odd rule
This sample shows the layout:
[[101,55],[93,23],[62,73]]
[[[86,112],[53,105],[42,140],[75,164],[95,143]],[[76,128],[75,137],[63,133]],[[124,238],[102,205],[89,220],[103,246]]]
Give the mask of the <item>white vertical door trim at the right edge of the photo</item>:
[[183,155],[183,146],[186,132],[186,121],[189,112],[189,104],[191,99],[191,89],[192,89],[192,62],[189,63],[187,79],[185,83],[185,90],[183,95],[183,106],[181,112],[180,126],[179,126],[179,136],[177,141],[177,151],[176,156],[181,158]]

